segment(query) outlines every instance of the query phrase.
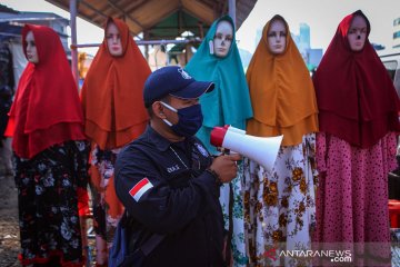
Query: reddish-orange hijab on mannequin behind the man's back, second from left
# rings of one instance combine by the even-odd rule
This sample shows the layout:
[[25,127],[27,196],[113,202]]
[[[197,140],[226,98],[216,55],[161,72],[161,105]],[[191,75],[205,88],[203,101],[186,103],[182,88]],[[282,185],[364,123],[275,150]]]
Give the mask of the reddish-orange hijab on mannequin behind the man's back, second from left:
[[151,70],[128,26],[109,18],[106,29],[110,22],[119,29],[122,55],[111,56],[104,38],[81,92],[86,135],[101,149],[122,147],[139,137],[148,122],[142,91]]

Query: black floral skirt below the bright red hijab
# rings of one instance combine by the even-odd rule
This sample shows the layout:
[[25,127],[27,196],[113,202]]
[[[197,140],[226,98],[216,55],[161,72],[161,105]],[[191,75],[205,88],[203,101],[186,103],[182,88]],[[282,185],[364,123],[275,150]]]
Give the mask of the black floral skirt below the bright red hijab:
[[60,258],[82,266],[77,188],[87,187],[87,146],[70,141],[32,159],[16,157],[22,265]]

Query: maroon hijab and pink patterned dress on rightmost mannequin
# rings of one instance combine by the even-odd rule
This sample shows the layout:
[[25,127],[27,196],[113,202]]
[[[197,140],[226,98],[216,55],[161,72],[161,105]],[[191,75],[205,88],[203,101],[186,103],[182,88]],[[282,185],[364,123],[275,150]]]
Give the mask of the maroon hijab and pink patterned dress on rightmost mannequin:
[[360,10],[347,16],[313,78],[320,110],[314,239],[341,244],[352,266],[390,266],[388,172],[396,167],[400,105],[368,38],[362,50],[350,49],[347,32],[356,16],[369,36]]

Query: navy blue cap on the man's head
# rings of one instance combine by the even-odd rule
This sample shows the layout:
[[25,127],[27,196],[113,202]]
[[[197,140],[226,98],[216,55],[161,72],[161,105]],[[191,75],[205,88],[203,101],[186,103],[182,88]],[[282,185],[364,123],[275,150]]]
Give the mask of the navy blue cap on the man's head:
[[172,96],[181,99],[194,99],[204,92],[212,91],[211,81],[197,81],[181,67],[168,66],[153,71],[144,83],[144,106],[150,107],[163,97]]

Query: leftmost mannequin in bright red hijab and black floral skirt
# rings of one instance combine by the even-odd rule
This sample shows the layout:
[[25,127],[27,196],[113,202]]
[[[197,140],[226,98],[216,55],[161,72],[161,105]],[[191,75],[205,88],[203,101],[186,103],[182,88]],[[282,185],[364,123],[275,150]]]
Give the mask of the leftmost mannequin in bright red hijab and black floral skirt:
[[10,111],[23,266],[83,266],[79,196],[88,186],[83,116],[59,36],[22,29],[28,59]]

